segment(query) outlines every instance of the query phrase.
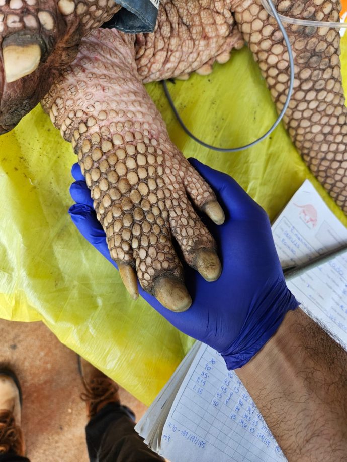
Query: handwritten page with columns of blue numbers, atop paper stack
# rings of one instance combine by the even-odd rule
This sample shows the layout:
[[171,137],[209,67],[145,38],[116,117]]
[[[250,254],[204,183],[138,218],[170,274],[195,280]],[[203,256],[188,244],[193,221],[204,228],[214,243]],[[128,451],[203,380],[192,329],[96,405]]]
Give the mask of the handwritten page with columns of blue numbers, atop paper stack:
[[171,462],[286,460],[242,382],[205,344],[173,401],[160,446]]

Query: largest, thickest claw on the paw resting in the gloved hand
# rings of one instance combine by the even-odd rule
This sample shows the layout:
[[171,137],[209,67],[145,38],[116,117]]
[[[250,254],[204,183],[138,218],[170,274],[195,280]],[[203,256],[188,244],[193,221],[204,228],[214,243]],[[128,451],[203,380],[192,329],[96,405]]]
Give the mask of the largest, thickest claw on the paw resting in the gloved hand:
[[154,296],[165,308],[177,313],[187,311],[192,304],[186,286],[175,277],[157,278],[154,281]]

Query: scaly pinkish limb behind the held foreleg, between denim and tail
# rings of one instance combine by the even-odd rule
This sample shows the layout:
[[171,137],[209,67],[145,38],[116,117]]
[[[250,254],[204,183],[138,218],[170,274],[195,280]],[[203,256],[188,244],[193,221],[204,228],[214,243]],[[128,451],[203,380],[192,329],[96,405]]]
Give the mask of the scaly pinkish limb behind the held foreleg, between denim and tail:
[[136,64],[144,82],[212,72],[243,40],[231,13],[232,0],[161,0],[155,31],[137,34]]

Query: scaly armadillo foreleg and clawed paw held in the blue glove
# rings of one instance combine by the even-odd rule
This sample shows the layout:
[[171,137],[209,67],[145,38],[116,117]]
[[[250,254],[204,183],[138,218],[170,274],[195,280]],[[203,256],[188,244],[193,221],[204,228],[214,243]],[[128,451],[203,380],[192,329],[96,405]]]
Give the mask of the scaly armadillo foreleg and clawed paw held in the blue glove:
[[222,221],[223,212],[211,188],[169,140],[137,73],[133,36],[99,29],[83,39],[76,60],[42,104],[72,142],[111,256],[132,297],[137,296],[136,270],[141,286],[164,306],[187,309],[191,298],[171,232],[187,263],[207,280],[219,276],[220,263],[186,188],[215,221]]

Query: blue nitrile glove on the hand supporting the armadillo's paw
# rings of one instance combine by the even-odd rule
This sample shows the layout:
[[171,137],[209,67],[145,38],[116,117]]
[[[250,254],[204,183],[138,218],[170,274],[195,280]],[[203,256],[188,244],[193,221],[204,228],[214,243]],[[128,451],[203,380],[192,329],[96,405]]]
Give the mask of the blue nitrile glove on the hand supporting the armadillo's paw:
[[[207,282],[186,266],[193,303],[182,313],[164,308],[141,287],[139,292],[171,324],[218,350],[228,369],[235,369],[263,347],[298,302],[286,286],[266,212],[228,175],[195,159],[190,162],[214,189],[225,211],[223,225],[208,225],[219,245],[222,274],[217,281]],[[117,267],[77,164],[72,175],[77,180],[70,188],[77,202],[69,210],[72,221]]]

